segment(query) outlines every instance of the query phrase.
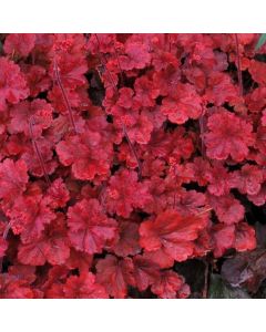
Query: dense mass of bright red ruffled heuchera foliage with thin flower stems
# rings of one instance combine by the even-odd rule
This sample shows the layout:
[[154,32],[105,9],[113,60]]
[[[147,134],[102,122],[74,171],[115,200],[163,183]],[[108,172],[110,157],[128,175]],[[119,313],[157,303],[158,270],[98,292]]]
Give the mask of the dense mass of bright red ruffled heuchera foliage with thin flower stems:
[[176,264],[256,248],[257,40],[0,35],[0,298],[187,298]]

